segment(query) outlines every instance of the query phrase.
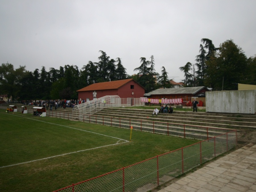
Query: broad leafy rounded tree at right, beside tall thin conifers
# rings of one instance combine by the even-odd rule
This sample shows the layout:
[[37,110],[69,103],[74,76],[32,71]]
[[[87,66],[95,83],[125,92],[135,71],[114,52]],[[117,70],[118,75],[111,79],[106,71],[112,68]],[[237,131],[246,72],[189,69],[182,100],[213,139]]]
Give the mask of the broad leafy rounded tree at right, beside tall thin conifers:
[[237,90],[236,83],[246,82],[247,66],[243,50],[233,40],[227,40],[220,45],[215,58],[207,61],[206,85],[213,90]]

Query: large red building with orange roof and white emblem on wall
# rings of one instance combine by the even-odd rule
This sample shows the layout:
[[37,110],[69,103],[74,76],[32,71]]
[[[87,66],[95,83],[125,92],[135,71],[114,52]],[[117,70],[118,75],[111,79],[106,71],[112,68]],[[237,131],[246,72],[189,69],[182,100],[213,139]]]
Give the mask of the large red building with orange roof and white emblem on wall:
[[93,100],[108,95],[117,95],[120,98],[140,98],[144,97],[145,89],[134,79],[124,79],[91,84],[77,92],[79,99],[88,101],[88,99]]

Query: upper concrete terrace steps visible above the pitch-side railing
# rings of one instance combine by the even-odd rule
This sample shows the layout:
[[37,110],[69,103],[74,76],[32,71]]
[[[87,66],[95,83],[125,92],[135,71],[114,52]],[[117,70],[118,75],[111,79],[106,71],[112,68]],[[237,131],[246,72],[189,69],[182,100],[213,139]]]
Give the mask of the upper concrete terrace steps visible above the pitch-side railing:
[[[139,115],[138,115],[139,114]],[[154,120],[169,123],[182,123],[185,125],[199,125],[217,128],[256,128],[256,116],[239,114],[219,113],[192,113],[174,111],[174,113],[159,113],[152,116],[152,110],[128,109],[128,108],[105,108],[95,115],[115,116],[121,118]]]

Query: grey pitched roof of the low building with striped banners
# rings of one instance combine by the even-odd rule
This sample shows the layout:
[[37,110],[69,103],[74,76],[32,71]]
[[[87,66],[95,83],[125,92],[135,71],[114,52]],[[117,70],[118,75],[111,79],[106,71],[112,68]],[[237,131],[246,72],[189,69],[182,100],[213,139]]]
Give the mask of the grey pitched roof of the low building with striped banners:
[[167,89],[156,89],[149,93],[145,93],[144,96],[151,95],[167,95],[167,94],[195,94],[198,91],[204,89],[206,87],[183,87],[183,88],[167,88]]

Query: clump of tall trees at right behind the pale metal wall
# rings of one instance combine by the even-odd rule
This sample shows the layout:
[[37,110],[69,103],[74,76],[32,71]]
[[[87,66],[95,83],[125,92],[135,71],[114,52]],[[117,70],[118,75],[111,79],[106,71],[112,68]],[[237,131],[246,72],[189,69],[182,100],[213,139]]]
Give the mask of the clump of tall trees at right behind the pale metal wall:
[[237,90],[237,84],[256,84],[256,57],[247,58],[233,40],[215,47],[210,39],[201,39],[195,64],[180,67],[186,87],[207,86],[212,90]]

